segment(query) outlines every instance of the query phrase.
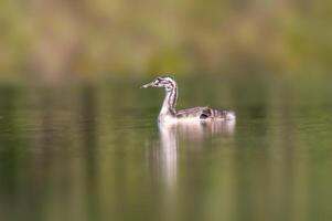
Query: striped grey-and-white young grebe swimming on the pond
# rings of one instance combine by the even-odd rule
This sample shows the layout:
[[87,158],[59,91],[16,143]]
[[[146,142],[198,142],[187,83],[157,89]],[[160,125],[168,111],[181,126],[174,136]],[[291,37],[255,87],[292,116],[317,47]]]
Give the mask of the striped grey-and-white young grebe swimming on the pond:
[[234,122],[236,119],[235,113],[232,110],[222,110],[208,106],[176,110],[178,84],[171,76],[159,76],[140,88],[148,87],[164,88],[165,92],[158,116],[159,123]]

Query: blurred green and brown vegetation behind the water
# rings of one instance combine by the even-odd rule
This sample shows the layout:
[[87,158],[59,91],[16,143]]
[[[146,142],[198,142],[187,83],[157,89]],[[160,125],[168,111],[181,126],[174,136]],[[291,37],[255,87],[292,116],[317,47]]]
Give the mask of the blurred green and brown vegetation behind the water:
[[331,21],[328,0],[2,0],[0,72],[326,73]]

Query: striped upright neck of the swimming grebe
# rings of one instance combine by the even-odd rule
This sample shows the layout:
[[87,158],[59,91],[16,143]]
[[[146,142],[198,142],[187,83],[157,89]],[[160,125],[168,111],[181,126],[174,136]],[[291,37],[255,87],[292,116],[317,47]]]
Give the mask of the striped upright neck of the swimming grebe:
[[174,87],[172,87],[172,90],[165,91],[165,97],[163,99],[163,104],[159,113],[159,116],[175,115],[176,99],[178,99],[178,87],[175,85]]

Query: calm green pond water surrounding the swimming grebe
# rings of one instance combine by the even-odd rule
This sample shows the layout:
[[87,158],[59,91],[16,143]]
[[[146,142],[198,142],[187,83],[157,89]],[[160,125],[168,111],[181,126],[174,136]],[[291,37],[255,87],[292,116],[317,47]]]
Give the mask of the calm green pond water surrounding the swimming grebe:
[[180,80],[180,107],[235,125],[158,126],[148,80],[0,86],[0,220],[331,220],[331,81]]

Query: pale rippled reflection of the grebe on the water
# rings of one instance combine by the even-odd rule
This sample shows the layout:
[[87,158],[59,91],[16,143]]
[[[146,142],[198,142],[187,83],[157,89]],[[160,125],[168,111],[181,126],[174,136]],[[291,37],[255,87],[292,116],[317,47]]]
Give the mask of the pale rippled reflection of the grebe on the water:
[[169,187],[176,181],[179,138],[203,140],[208,135],[233,135],[235,122],[159,123],[160,148],[153,152]]

